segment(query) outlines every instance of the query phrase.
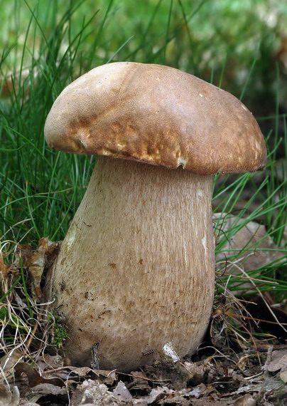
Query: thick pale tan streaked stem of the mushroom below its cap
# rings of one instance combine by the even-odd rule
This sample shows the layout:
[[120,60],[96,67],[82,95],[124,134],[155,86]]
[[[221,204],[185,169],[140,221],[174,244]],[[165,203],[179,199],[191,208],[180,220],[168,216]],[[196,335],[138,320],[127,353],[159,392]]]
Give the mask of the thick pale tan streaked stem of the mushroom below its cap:
[[97,157],[53,269],[76,365],[129,371],[200,344],[212,309],[212,176]]

